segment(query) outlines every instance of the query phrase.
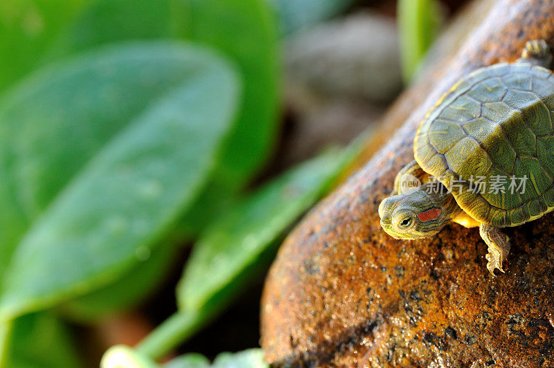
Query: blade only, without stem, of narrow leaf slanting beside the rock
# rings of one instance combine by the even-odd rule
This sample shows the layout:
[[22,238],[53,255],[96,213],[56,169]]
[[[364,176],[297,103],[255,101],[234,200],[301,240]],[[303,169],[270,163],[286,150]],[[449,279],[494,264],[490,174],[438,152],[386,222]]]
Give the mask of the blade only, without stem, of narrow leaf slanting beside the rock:
[[321,196],[343,167],[337,151],[315,158],[247,196],[199,239],[177,288],[183,310],[198,310],[229,286]]

